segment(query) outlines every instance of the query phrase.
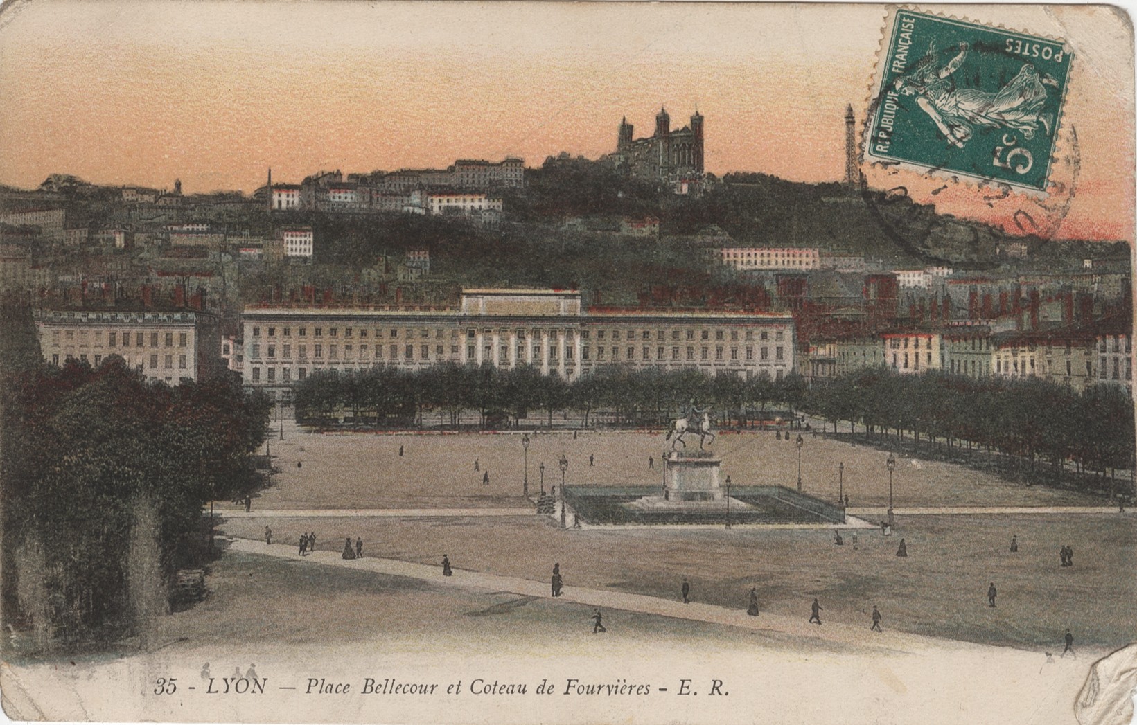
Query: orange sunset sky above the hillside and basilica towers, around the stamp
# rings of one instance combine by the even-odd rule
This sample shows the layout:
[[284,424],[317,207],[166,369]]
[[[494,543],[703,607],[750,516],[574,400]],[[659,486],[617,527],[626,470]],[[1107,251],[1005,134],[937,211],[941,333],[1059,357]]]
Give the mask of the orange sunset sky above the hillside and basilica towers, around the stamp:
[[[957,16],[1062,36],[1077,61],[1064,123],[1080,169],[1060,236],[1134,236],[1132,41],[1109,8],[969,7]],[[250,192],[298,182],[561,150],[611,151],[623,115],[648,135],[706,117],[707,170],[831,181],[846,103],[866,107],[882,6],[714,3],[9,2],[0,13],[0,182]],[[1032,202],[935,197],[1006,223]],[[989,194],[988,194],[989,195]],[[988,206],[990,203],[991,206]]]

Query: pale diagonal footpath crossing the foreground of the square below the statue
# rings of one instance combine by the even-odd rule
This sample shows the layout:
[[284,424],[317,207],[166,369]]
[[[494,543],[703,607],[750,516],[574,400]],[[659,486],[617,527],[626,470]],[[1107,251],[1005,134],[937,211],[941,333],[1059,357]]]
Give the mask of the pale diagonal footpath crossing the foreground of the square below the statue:
[[[258,553],[284,559],[294,559],[310,564],[324,566],[340,566],[349,569],[363,569],[377,574],[389,574],[395,576],[406,576],[416,580],[429,581],[438,586],[457,586],[462,589],[478,589],[490,592],[509,592],[523,597],[536,597],[551,599],[548,582],[538,582],[515,576],[501,576],[484,572],[471,572],[454,567],[454,576],[442,576],[440,566],[415,564],[400,559],[388,559],[379,557],[364,557],[363,559],[343,559],[334,551],[315,551],[301,557],[297,552],[297,547],[292,544],[265,544],[263,541],[251,539],[229,539],[229,551],[240,551],[244,553]],[[955,640],[944,640],[939,638],[908,634],[903,632],[889,632],[882,634],[870,632],[872,620],[868,615],[863,623],[856,626],[835,622],[827,622],[822,626],[808,624],[810,601],[802,601],[802,616],[788,617],[786,615],[774,615],[762,612],[757,617],[746,614],[742,605],[746,603],[746,592],[739,591],[739,608],[728,609],[716,605],[704,605],[691,602],[688,605],[678,600],[661,599],[658,597],[647,597],[645,594],[631,594],[614,590],[587,589],[580,586],[565,586],[557,601],[584,605],[587,607],[599,607],[603,610],[625,610],[641,614],[672,617],[675,619],[689,619],[705,622],[709,624],[728,625],[740,627],[753,632],[771,635],[804,636],[850,644],[856,647],[885,648],[901,651],[921,651],[930,647],[938,649],[961,649],[984,651],[991,645],[976,644],[971,642],[958,642]],[[825,602],[821,602],[824,607]],[[824,610],[822,610],[824,612]],[[885,617],[888,612],[882,612]],[[824,614],[822,614],[824,620]],[[608,624],[614,625],[615,619],[609,618]],[[887,619],[886,619],[887,623]],[[581,626],[586,626],[587,620],[582,620]],[[1010,648],[999,648],[1002,651],[1016,652]],[[1035,653],[1022,652],[1024,656],[1036,657]]]

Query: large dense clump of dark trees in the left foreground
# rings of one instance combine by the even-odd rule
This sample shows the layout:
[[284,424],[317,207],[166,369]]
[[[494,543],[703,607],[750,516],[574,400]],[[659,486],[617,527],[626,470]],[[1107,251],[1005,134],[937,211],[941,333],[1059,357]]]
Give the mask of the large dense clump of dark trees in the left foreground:
[[142,633],[201,564],[205,503],[255,480],[271,403],[236,376],[171,388],[118,356],[8,370],[2,390],[6,619],[45,645]]

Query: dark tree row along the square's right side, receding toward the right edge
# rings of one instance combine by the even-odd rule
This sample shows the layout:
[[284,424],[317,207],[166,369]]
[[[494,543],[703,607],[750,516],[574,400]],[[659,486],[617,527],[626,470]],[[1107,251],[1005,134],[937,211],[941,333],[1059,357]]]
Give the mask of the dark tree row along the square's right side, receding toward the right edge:
[[1029,461],[1043,459],[1055,477],[1072,461],[1104,475],[1131,468],[1134,403],[1117,385],[1077,392],[1036,377],[974,380],[939,370],[902,375],[865,368],[815,386],[806,410],[865,436],[908,432],[928,445],[978,445]]

